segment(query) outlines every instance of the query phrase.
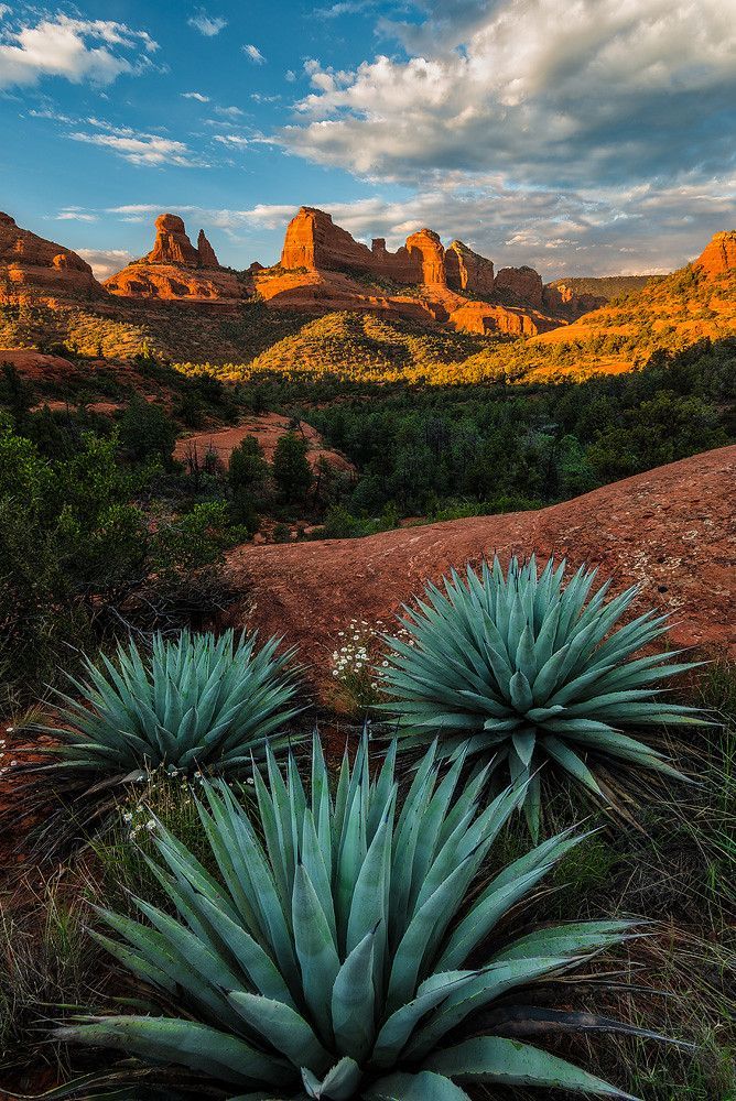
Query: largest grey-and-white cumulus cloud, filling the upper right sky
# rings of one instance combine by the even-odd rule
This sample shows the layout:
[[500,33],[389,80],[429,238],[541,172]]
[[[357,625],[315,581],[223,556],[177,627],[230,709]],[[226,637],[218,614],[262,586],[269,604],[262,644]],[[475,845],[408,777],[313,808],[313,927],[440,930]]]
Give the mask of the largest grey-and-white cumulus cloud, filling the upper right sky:
[[[312,63],[282,139],[354,172],[505,171],[609,184],[734,161],[736,21],[727,0],[443,0],[383,23],[410,56]],[[689,165],[690,166],[690,165]]]

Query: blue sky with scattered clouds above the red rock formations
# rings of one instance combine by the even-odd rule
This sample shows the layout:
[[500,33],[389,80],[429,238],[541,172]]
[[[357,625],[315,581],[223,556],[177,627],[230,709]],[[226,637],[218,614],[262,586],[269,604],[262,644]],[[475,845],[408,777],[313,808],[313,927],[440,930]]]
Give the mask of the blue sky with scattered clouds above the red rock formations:
[[736,226],[736,0],[0,2],[0,209],[104,277],[301,205],[498,266],[665,272]]

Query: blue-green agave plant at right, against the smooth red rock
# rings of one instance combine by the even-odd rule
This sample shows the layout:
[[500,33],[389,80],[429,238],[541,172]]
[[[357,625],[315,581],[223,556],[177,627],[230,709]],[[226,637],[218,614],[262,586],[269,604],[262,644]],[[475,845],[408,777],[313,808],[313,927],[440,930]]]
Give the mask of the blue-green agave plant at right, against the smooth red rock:
[[[638,592],[632,586],[606,602],[610,580],[589,596],[596,570],[581,567],[563,584],[564,560],[496,557],[480,577],[453,570],[445,592],[426,587],[419,610],[401,620],[409,640],[391,648],[383,687],[394,701],[407,745],[442,734],[442,752],[493,755],[513,781],[529,781],[524,800],[535,838],[540,817],[538,768],[544,761],[602,796],[598,756],[684,778],[651,745],[624,733],[662,723],[696,723],[696,708],[661,698],[657,682],[697,663],[672,663],[682,651],[629,661],[668,630],[665,615],[647,611],[614,630]],[[588,599],[589,596],[589,599]]]

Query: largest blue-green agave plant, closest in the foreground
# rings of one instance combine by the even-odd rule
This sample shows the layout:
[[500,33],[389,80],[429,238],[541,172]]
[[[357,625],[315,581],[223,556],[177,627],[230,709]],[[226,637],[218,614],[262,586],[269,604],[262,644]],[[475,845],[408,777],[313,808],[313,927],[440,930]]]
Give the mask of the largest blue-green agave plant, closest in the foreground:
[[293,756],[284,774],[267,757],[255,822],[226,785],[204,785],[217,875],[154,832],[150,866],[177,917],[140,898],[148,924],[99,911],[117,936],[97,939],[181,1016],[77,1018],[59,1038],[190,1068],[245,1091],[238,1101],[467,1101],[458,1081],[628,1097],[519,1036],[564,1024],[533,1006],[530,985],[629,923],[496,931],[580,837],[546,840],[479,885],[520,788],[479,810],[487,771],[461,789],[462,757],[440,777],[431,748],[399,810],[396,744],[372,781],[365,740],[353,768],[346,755],[334,800],[316,737],[309,798]]

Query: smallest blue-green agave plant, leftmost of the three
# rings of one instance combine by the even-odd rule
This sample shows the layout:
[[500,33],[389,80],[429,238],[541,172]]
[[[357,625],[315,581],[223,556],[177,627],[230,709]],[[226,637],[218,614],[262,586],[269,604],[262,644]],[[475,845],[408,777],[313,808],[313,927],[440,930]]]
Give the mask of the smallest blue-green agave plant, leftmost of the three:
[[279,639],[256,651],[256,634],[236,642],[231,631],[158,634],[150,653],[133,641],[104,668],[85,659],[86,679],[69,677],[76,697],[56,693],[59,722],[37,729],[61,744],[51,767],[131,780],[163,765],[229,773],[249,767],[278,731],[299,713],[294,651],[277,655]]

